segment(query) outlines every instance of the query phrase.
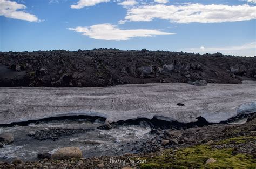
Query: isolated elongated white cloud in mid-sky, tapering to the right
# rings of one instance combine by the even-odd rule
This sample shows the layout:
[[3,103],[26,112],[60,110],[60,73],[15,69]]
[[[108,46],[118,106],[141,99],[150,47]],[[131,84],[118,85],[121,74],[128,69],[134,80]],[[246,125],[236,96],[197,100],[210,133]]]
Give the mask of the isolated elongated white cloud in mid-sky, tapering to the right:
[[115,25],[111,25],[107,23],[92,25],[89,27],[78,26],[76,28],[68,28],[68,29],[78,33],[82,33],[82,35],[89,36],[90,38],[101,39],[101,40],[129,40],[130,38],[133,38],[133,37],[152,37],[155,35],[175,34],[175,33],[161,32],[159,30],[154,30],[154,29],[122,30]]

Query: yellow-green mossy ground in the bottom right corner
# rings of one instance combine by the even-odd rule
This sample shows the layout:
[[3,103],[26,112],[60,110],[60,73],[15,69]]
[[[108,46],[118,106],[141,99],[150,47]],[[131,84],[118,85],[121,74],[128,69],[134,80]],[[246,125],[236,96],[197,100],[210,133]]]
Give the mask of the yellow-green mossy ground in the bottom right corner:
[[[246,143],[256,140],[256,137],[235,137],[219,141],[216,144]],[[217,149],[210,145],[197,145],[180,148],[179,150],[166,150],[163,155],[145,158],[146,164],[141,168],[256,168],[256,160],[250,154],[233,154],[233,148]],[[217,160],[206,164],[208,158]]]

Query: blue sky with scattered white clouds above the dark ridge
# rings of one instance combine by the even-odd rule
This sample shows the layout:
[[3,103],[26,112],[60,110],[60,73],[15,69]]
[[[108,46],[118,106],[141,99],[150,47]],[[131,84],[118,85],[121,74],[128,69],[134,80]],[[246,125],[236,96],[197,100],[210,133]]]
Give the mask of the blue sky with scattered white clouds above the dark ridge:
[[0,51],[256,56],[256,0],[0,0]]

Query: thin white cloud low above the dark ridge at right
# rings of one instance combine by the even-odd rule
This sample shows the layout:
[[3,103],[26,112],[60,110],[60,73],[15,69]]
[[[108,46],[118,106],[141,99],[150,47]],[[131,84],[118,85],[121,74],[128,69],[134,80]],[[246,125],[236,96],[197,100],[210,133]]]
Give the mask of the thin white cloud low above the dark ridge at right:
[[256,56],[256,42],[247,43],[240,46],[224,46],[224,47],[204,47],[184,49],[185,52],[194,53],[223,53],[225,55],[235,56]]

